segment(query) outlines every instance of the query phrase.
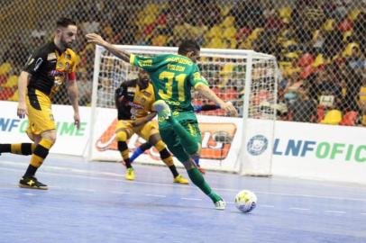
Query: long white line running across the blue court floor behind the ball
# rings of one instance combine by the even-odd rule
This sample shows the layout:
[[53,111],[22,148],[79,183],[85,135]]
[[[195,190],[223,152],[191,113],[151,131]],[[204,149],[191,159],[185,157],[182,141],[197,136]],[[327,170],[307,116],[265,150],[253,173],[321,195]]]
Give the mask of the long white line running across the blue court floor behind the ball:
[[[20,163],[15,163],[12,161],[1,161],[1,164],[9,164],[9,165],[13,165],[13,166],[20,166],[22,165],[22,167],[24,167],[23,164]],[[19,171],[20,169],[11,169],[11,168],[5,168],[2,167],[2,170],[15,170],[15,171]],[[122,182],[122,183],[128,183],[125,182],[124,180],[120,180],[120,179],[112,179],[112,178],[102,178],[102,177],[93,177],[91,176],[91,174],[93,175],[108,175],[108,176],[117,176],[117,177],[123,177],[123,175],[121,174],[116,174],[116,173],[109,173],[109,172],[94,172],[94,171],[90,171],[90,170],[83,170],[83,169],[72,169],[72,168],[68,168],[68,167],[59,167],[59,166],[47,166],[46,169],[54,169],[56,171],[59,170],[69,170],[71,171],[78,171],[78,173],[80,174],[86,174],[86,175],[65,175],[65,174],[59,174],[59,173],[52,173],[52,172],[47,172],[47,171],[43,171],[43,174],[48,174],[48,175],[59,175],[59,176],[71,176],[71,177],[79,177],[79,178],[88,178],[88,179],[94,179],[94,180],[107,180],[107,181],[115,181],[115,182]],[[22,169],[23,171],[23,169]],[[150,184],[150,185],[159,185],[159,186],[169,186],[169,187],[179,187],[179,188],[187,188],[187,189],[196,189],[193,186],[189,186],[189,185],[184,185],[184,184],[163,184],[163,183],[151,183],[151,182],[139,182],[139,181],[133,181],[133,184]],[[213,187],[213,189],[215,189],[216,191],[227,191],[227,192],[238,192],[238,189],[232,189],[232,188],[215,188]],[[319,198],[319,199],[332,199],[332,200],[342,200],[342,201],[356,201],[356,202],[366,202],[366,198],[352,198],[352,197],[347,197],[347,198],[343,198],[343,197],[338,197],[338,196],[319,196],[319,195],[311,195],[311,194],[296,194],[296,193],[271,193],[271,192],[261,192],[261,191],[256,191],[256,194],[271,194],[271,195],[279,195],[279,196],[291,196],[291,197],[307,197],[307,198]]]

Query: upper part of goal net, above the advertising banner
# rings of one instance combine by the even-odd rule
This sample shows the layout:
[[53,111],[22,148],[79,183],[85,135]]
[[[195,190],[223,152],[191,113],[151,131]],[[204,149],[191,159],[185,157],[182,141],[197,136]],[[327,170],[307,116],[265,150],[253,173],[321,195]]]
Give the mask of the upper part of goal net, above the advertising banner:
[[[144,49],[143,47],[126,47],[125,49],[134,54],[149,57],[158,54],[174,54],[176,49]],[[130,50],[131,49],[131,50]],[[153,52],[153,54],[151,54]],[[207,52],[201,51],[201,58],[197,62],[202,76],[205,76],[210,88],[226,102],[232,102],[240,116],[243,112],[243,95],[245,93],[245,78],[247,70],[248,53],[243,52],[233,55],[220,50]],[[277,66],[274,57],[252,54],[252,74],[249,99],[249,118],[273,120],[273,111],[276,109]],[[105,49],[102,50],[100,66],[98,69],[98,85],[96,94],[96,107],[114,108],[114,90],[126,80],[137,77],[138,69],[115,58]],[[192,103],[197,108],[205,104],[214,104],[205,97],[197,94],[192,89]],[[197,111],[206,115],[225,116],[221,109],[213,111]]]

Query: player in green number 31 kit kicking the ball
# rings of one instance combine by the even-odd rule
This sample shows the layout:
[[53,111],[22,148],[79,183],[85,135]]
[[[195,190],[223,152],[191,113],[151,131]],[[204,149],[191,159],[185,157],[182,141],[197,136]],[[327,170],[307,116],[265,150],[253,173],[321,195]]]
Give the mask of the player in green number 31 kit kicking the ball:
[[117,58],[146,70],[154,88],[158,112],[159,130],[169,150],[186,167],[188,176],[215,203],[215,209],[224,210],[226,202],[206,183],[197,169],[194,157],[199,157],[201,133],[197,117],[191,104],[191,88],[219,105],[226,112],[237,116],[230,102],[225,103],[209,88],[206,79],[197,67],[200,48],[196,41],[183,41],[178,54],[163,54],[154,57],[135,56],[123,49],[117,49],[95,33],[87,34],[87,41],[109,50]]

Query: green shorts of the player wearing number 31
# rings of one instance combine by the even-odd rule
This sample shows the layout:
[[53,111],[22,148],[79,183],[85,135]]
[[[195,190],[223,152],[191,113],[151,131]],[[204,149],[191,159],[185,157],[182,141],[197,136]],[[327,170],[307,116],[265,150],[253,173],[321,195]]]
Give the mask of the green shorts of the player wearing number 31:
[[[192,139],[195,139],[195,142],[199,144],[202,143],[201,131],[199,130],[195,114],[192,116],[188,115],[188,113],[179,113],[178,116],[174,116],[174,118],[192,135]],[[159,122],[159,131],[161,139],[167,144],[170,152],[172,152],[180,162],[188,161],[190,155],[181,145],[180,138],[174,128],[169,125],[167,121],[163,121]]]

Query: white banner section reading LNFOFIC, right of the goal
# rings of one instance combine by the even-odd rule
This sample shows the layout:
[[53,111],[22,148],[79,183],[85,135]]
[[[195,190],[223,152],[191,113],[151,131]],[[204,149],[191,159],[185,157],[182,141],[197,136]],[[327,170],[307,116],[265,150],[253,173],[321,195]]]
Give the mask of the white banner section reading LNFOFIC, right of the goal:
[[366,128],[277,121],[272,174],[366,184]]

